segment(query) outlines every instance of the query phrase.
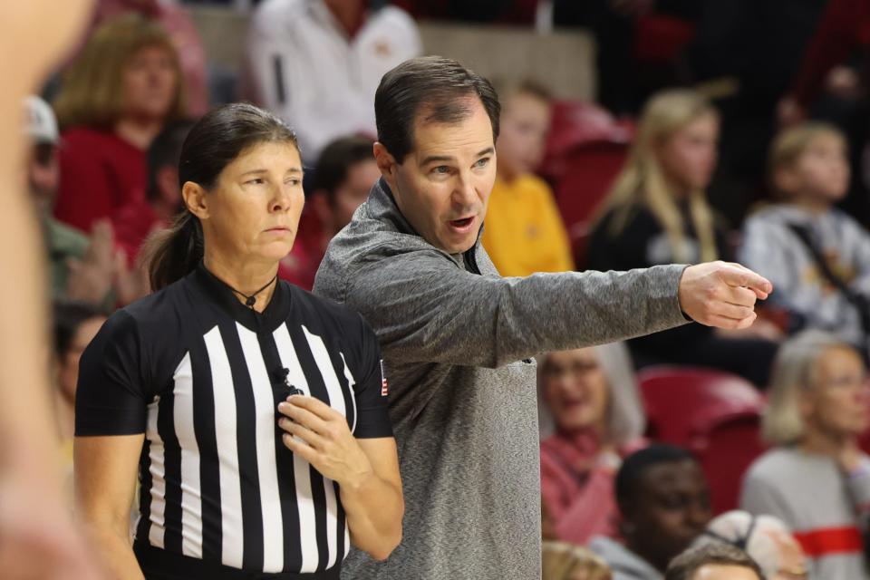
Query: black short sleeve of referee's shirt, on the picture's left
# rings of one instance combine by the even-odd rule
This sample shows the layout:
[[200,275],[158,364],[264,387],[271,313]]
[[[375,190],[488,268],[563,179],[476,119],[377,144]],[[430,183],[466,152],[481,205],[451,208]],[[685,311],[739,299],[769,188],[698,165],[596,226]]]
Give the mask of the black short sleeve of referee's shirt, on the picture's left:
[[140,334],[123,310],[112,314],[82,353],[75,435],[144,433],[148,402]]

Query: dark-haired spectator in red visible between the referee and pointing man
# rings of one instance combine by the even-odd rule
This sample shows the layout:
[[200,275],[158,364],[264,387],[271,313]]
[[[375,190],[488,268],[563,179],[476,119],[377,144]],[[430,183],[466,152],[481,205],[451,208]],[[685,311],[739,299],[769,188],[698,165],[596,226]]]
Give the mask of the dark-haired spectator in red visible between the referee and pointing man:
[[371,139],[342,137],[324,147],[314,170],[307,216],[278,275],[311,290],[329,241],[351,222],[353,212],[380,178]]

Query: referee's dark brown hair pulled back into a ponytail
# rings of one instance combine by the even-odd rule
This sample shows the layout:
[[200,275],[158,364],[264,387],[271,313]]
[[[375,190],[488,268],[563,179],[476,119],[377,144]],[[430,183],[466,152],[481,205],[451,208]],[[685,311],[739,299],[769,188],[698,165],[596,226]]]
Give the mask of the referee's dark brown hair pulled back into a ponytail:
[[[284,121],[254,105],[233,103],[209,111],[190,129],[181,146],[179,188],[190,181],[208,191],[243,151],[267,141],[292,143],[299,149],[295,133]],[[172,227],[152,235],[145,247],[151,290],[188,275],[204,252],[199,218],[185,208]]]

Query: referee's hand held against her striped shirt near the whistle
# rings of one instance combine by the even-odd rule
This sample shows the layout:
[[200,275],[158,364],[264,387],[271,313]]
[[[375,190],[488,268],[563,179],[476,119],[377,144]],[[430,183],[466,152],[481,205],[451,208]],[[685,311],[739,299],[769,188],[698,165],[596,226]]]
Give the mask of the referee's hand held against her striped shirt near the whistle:
[[344,416],[332,407],[303,395],[278,405],[285,415],[278,426],[285,430],[285,447],[305,459],[325,478],[339,485],[355,485],[372,475],[372,463],[353,437]]

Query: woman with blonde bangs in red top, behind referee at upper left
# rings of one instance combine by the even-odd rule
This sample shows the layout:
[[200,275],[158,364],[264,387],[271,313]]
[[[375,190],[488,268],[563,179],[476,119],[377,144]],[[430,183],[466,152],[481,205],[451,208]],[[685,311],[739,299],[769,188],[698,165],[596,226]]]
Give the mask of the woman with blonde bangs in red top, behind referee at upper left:
[[144,200],[145,151],[167,122],[186,116],[169,34],[139,14],[103,24],[53,104],[63,138],[54,213],[90,231],[95,221]]

